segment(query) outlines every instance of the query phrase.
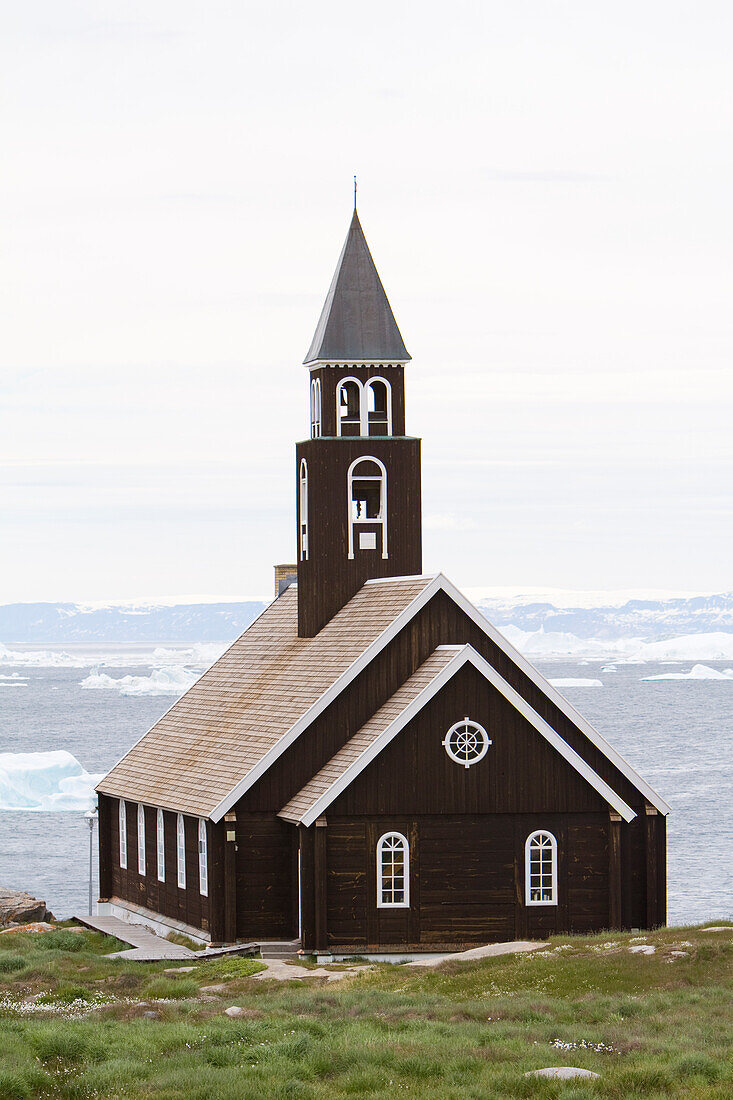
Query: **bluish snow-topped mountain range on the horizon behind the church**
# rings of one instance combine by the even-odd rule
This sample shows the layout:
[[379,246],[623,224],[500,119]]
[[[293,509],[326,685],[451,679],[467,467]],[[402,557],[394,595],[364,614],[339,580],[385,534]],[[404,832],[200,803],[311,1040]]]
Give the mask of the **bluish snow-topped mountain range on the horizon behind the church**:
[[[571,595],[566,600],[571,603]],[[229,641],[265,604],[133,604],[85,607],[79,604],[4,604],[0,642],[195,642]],[[628,600],[621,605],[572,607],[548,602],[482,598],[479,606],[497,627],[569,634],[610,640],[655,641],[686,634],[733,634],[733,592],[720,595]]]

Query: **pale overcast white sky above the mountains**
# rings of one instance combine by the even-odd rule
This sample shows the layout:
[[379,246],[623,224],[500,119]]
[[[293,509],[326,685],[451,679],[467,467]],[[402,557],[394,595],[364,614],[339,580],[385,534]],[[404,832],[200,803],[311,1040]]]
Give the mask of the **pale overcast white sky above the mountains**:
[[424,568],[733,588],[733,8],[29,0],[0,41],[0,602],[260,598],[352,176]]

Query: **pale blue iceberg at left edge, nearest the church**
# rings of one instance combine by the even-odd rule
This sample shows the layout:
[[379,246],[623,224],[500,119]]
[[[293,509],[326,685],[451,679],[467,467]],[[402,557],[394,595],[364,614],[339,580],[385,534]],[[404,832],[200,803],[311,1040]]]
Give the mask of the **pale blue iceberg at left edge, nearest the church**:
[[0,752],[0,810],[85,813],[96,806],[95,787],[103,777],[90,774],[65,749]]

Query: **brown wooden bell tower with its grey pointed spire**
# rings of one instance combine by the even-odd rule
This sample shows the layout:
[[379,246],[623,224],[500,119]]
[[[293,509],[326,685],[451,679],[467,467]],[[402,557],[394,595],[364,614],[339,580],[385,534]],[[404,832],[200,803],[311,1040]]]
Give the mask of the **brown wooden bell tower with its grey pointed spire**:
[[354,204],[304,361],[310,439],[296,446],[302,638],[318,634],[365,581],[422,572],[420,441],[405,435],[409,358]]

